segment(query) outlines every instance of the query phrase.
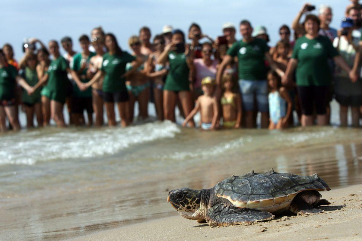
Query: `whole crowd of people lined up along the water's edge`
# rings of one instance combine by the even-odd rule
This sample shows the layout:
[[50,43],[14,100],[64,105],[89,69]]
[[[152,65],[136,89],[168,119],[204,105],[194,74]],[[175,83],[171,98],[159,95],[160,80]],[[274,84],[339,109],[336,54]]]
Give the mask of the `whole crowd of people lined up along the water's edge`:
[[17,62],[12,46],[5,44],[0,49],[0,130],[20,129],[19,107],[28,128],[35,116],[38,127],[51,119],[65,127],[64,104],[75,126],[104,125],[104,107],[108,125],[117,125],[116,105],[124,127],[135,120],[135,102],[140,120],[147,120],[152,102],[158,120],[175,122],[177,107],[189,127],[199,111],[204,130],[253,128],[257,112],[262,128],[293,125],[293,111],[302,126],[328,125],[332,98],[340,104],[341,125],[347,125],[350,107],[352,124],[359,126],[362,6],[351,2],[338,30],[329,26],[331,7],[319,6],[316,16],[310,13],[315,6],[304,4],[291,24],[294,39],[290,27],[282,25],[274,47],[268,45],[266,28],[253,28],[248,20],[237,27],[224,23],[216,39],[192,23],[187,34],[165,25],[151,43],[150,29],[142,27],[128,40],[131,53],[102,27],[79,37],[80,53],[70,37],[61,39],[63,56],[57,40],[46,46],[31,38]]

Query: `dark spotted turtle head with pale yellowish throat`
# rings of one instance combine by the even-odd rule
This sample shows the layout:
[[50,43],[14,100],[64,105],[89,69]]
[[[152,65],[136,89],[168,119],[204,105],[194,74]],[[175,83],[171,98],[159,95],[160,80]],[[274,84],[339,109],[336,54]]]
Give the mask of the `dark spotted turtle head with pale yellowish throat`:
[[201,190],[188,188],[175,189],[168,193],[167,201],[182,217],[197,220],[199,218],[201,192]]

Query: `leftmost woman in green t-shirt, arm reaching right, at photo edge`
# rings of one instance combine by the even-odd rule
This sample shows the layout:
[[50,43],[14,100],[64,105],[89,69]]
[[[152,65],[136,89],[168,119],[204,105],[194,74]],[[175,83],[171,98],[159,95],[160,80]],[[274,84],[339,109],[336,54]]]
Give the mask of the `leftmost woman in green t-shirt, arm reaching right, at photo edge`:
[[3,50],[0,49],[0,131],[5,132],[6,117],[13,130],[20,130],[17,108],[15,106],[16,82],[28,92],[31,87],[18,75],[16,68],[7,63]]

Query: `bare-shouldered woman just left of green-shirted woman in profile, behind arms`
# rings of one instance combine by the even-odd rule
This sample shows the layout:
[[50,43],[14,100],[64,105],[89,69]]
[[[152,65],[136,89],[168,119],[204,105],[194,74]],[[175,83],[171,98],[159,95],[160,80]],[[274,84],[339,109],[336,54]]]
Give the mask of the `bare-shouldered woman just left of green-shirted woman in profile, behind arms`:
[[[41,48],[37,52],[38,65],[37,65],[37,75],[38,79],[41,79],[47,72],[51,60],[49,59],[49,52],[46,48]],[[41,106],[42,106],[42,116],[43,123],[38,123],[39,125],[47,126],[50,123],[50,92],[48,87],[43,86],[41,92]]]

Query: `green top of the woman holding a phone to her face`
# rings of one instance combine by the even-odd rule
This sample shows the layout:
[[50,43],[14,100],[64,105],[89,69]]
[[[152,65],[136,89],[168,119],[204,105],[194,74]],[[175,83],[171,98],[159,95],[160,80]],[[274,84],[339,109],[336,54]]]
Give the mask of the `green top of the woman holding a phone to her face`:
[[168,61],[170,68],[166,77],[164,90],[188,91],[189,87],[189,66],[184,53],[169,52]]

